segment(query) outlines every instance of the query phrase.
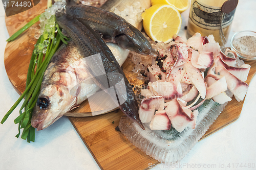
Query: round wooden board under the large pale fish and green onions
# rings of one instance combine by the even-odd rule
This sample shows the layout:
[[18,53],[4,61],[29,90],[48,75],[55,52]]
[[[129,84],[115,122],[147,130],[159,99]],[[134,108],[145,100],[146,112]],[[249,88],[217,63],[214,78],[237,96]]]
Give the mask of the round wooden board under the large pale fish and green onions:
[[[26,25],[35,16],[41,14],[47,8],[47,1],[40,1],[35,7],[24,11],[22,13],[6,17],[6,27],[9,35],[13,35],[16,31]],[[34,49],[34,44],[37,39],[34,38],[34,28],[39,27],[39,22],[33,25],[30,29],[26,30],[22,35],[18,36],[14,41],[8,42],[5,49],[5,68],[10,82],[14,89],[22,94],[26,87],[26,78],[29,67],[30,58]],[[126,65],[126,66],[125,66]],[[123,65],[125,68],[130,67],[130,64],[126,62]],[[97,96],[94,95],[95,98]],[[107,103],[109,101],[102,101]],[[104,110],[97,107],[92,108],[96,115],[108,113],[112,110]],[[80,107],[71,110],[66,113],[67,116],[93,116],[88,100],[84,101]]]

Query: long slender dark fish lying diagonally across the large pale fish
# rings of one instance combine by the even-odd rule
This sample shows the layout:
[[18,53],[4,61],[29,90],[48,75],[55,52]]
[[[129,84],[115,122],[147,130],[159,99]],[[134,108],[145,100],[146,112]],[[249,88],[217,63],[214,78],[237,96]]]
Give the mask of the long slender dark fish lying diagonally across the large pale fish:
[[[94,74],[95,70],[98,71],[98,69],[100,69],[100,67],[97,67],[97,61],[93,65],[94,68],[87,67],[88,74],[91,74],[93,81],[103,90],[109,89],[109,87],[113,87],[113,85],[115,85],[116,88],[114,90],[116,95],[111,95],[112,98],[118,99],[120,110],[134,122],[136,122],[142,129],[144,129],[144,126],[139,119],[139,107],[133,88],[125,77],[114,55],[110,51],[109,47],[105,44],[105,42],[101,39],[100,35],[96,33],[90,26],[86,27],[82,25],[82,23],[77,19],[67,15],[57,16],[56,20],[58,25],[64,29],[76,43],[84,58],[100,54],[104,67],[103,71],[105,71],[105,74],[108,75],[108,82],[102,81],[102,79]],[[121,80],[125,84],[125,87],[118,83]],[[106,92],[108,93],[108,91]]]

